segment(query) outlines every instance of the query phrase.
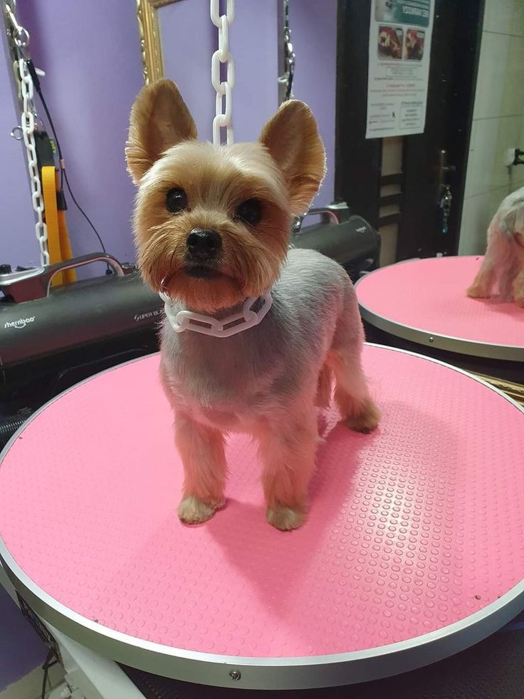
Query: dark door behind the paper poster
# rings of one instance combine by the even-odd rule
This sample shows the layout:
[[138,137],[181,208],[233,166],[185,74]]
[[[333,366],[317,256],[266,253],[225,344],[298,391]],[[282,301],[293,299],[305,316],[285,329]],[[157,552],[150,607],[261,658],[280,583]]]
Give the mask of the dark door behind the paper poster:
[[[339,3],[336,195],[377,229],[398,224],[397,259],[456,254],[483,2],[436,0],[426,127],[404,136],[402,167],[388,175],[382,175],[382,139],[365,139],[371,6],[371,0]],[[392,184],[399,194],[382,196],[384,185]],[[446,187],[452,200],[445,222],[440,203]],[[392,202],[398,212],[381,216],[381,207]]]

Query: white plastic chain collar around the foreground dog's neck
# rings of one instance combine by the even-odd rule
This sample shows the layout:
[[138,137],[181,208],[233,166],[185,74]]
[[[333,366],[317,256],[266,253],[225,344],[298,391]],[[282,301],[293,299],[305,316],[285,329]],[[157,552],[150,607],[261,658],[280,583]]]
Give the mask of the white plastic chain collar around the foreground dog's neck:
[[231,316],[218,320],[212,316],[193,313],[193,311],[178,311],[175,314],[173,301],[169,296],[161,293],[160,298],[164,301],[164,311],[167,320],[175,333],[192,330],[195,333],[213,337],[231,337],[231,335],[241,333],[248,328],[253,328],[266,317],[273,305],[271,294],[264,294],[264,296],[260,297],[261,307],[258,311],[253,311],[253,306],[258,299],[246,299],[240,313],[234,313]]

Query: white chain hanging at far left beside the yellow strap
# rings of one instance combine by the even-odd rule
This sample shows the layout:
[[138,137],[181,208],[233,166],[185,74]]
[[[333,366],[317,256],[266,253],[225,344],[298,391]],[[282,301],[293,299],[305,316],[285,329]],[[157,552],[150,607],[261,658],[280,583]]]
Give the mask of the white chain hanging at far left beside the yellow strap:
[[[38,246],[40,247],[40,262],[43,266],[49,264],[49,250],[47,239],[47,226],[43,220],[43,196],[40,174],[38,172],[38,162],[36,160],[36,142],[34,132],[36,130],[36,110],[33,103],[33,79],[29,73],[27,59],[24,57],[26,46],[29,43],[29,33],[17,21],[15,16],[16,0],[6,0],[6,15],[11,24],[13,41],[18,49],[18,73],[20,78],[20,88],[23,100],[23,111],[21,113],[21,124],[11,131],[21,131],[23,143],[26,146],[27,167],[29,170],[29,180],[31,182],[31,201],[36,212],[35,234]],[[16,138],[16,137],[15,137]],[[17,140],[20,140],[17,138]]]

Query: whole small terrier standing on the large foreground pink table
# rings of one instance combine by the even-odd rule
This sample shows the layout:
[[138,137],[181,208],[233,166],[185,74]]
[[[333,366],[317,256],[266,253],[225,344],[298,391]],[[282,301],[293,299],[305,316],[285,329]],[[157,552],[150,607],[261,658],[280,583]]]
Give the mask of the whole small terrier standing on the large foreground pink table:
[[[215,147],[197,142],[177,87],[159,80],[133,105],[126,157],[140,269],[167,302],[161,376],[184,464],[179,517],[205,522],[223,507],[224,435],[242,432],[259,445],[268,522],[300,527],[315,406],[329,403],[332,375],[347,427],[369,433],[379,419],[350,279],[318,252],[289,250],[293,216],[325,173],[315,119],[290,100],[256,143]],[[207,330],[239,319],[233,333]]]

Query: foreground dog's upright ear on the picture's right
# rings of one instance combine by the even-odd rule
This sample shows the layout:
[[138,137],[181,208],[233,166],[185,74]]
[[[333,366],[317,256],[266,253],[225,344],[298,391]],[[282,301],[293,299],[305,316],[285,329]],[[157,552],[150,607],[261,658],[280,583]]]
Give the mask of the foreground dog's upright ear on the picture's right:
[[280,167],[292,213],[304,214],[325,175],[325,150],[308,105],[288,100],[266,123],[260,141]]

